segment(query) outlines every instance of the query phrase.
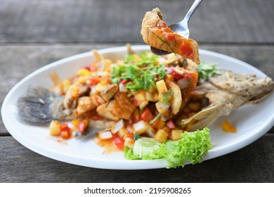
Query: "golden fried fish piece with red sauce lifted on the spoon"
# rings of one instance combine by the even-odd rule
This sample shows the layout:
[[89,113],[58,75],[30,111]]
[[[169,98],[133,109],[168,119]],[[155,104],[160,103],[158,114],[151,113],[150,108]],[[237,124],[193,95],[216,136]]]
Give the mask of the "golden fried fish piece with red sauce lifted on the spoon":
[[167,24],[162,20],[162,12],[159,8],[145,13],[141,35],[146,44],[156,49],[176,53],[200,64],[197,42],[182,37],[167,27]]

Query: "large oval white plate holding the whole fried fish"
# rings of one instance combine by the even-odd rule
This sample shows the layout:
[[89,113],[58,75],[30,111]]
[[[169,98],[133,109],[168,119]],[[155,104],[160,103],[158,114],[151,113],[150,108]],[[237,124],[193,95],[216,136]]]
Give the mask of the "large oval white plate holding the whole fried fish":
[[[133,50],[138,53],[148,51],[148,49],[148,46],[133,46]],[[126,47],[103,49],[99,50],[99,53],[106,58],[115,60],[117,58],[124,58]],[[235,72],[255,73],[259,77],[266,76],[260,70],[252,67],[252,65],[220,53],[201,49],[200,59],[207,63],[218,63],[220,68],[227,68]],[[18,82],[6,96],[1,109],[4,125],[8,129],[8,132],[20,144],[30,148],[30,150],[65,163],[86,167],[124,170],[165,167],[167,164],[165,160],[126,160],[122,152],[105,154],[103,153],[103,148],[97,146],[91,140],[79,141],[70,139],[58,142],[56,137],[49,136],[48,125],[30,125],[20,120],[16,102],[22,94],[25,94],[30,84],[37,83],[44,87],[52,87],[53,83],[49,77],[51,73],[58,73],[61,79],[72,77],[79,68],[89,65],[92,61],[93,54],[91,52],[81,53],[46,65]],[[221,129],[222,118],[219,118],[210,127],[213,148],[204,155],[204,160],[236,151],[259,139],[263,134],[266,134],[273,127],[273,100],[274,94],[270,94],[261,103],[242,106],[231,113],[229,117],[226,117],[226,119],[230,120],[237,127],[236,134],[223,132]]]

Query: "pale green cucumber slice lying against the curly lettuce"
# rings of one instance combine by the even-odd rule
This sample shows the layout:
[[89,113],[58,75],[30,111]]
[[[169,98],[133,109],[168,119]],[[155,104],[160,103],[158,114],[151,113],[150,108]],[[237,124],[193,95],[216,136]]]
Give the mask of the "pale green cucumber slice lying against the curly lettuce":
[[159,148],[159,144],[159,141],[156,141],[153,138],[141,137],[135,141],[133,146],[133,153],[142,158],[143,155],[153,153],[153,151]]

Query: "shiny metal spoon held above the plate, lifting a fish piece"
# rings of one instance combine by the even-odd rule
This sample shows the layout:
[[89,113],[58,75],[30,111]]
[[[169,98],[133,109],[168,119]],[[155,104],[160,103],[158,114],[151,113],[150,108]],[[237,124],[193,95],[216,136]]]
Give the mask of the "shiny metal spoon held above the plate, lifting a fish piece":
[[[179,23],[174,23],[172,25],[169,25],[169,28],[176,32],[177,34],[180,34],[182,37],[188,38],[189,37],[189,30],[188,30],[188,20],[190,20],[191,15],[193,15],[196,8],[202,3],[202,0],[195,0],[193,5],[190,7],[188,13],[185,15],[185,18]],[[150,51],[152,53],[155,53],[158,56],[165,56],[169,54],[168,51],[162,51],[160,49],[156,49],[155,47],[150,46]]]

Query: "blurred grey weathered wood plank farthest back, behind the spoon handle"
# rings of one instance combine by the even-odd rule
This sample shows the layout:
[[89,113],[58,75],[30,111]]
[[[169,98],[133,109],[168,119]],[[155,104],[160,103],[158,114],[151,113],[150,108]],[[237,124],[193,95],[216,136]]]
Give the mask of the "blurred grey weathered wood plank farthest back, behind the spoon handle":
[[[146,11],[158,6],[171,24],[183,18],[192,2],[0,0],[0,42],[142,42]],[[190,35],[200,43],[273,44],[273,10],[273,1],[203,1],[190,20]]]

